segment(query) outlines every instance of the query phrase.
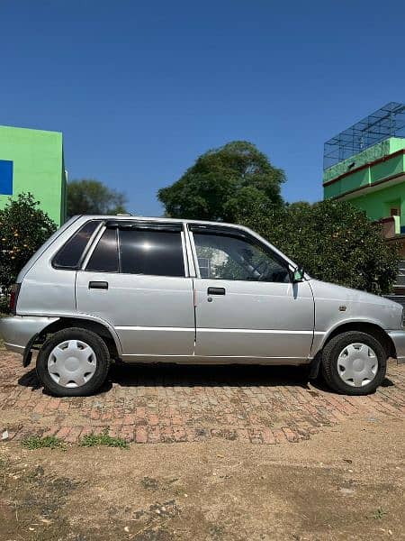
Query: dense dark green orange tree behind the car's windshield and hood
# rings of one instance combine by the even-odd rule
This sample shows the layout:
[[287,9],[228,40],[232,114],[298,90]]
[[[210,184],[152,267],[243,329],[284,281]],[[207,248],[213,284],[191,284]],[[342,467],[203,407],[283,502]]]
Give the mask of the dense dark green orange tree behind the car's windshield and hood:
[[300,202],[264,215],[241,216],[313,278],[390,293],[398,272],[397,247],[383,240],[381,226],[348,202]]

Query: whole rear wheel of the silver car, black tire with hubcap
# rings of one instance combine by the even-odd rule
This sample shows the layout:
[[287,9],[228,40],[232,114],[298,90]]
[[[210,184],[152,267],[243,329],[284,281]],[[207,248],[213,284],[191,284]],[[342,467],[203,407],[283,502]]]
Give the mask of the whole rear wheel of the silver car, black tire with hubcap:
[[57,397],[93,394],[103,385],[109,368],[110,354],[100,336],[75,327],[51,335],[37,357],[38,378]]

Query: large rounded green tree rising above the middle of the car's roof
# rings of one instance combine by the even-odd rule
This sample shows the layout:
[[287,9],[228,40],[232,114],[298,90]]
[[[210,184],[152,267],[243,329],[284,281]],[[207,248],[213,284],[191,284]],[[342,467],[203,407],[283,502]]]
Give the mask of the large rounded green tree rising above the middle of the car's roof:
[[281,206],[284,170],[275,168],[251,142],[229,142],[205,152],[172,186],[161,188],[157,198],[166,215],[233,222]]

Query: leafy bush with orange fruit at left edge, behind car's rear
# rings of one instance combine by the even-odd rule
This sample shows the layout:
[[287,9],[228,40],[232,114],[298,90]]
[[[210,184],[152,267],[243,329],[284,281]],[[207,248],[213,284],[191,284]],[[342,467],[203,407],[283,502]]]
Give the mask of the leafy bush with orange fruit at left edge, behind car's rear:
[[20,194],[0,210],[0,287],[5,290],[57,228],[39,204],[31,194]]

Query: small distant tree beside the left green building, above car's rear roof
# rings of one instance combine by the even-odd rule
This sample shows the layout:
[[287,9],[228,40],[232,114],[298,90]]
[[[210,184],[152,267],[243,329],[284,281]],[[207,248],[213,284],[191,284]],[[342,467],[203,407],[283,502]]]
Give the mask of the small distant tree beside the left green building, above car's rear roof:
[[126,214],[127,198],[94,179],[77,179],[67,184],[67,215]]

